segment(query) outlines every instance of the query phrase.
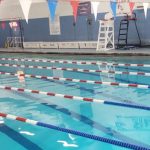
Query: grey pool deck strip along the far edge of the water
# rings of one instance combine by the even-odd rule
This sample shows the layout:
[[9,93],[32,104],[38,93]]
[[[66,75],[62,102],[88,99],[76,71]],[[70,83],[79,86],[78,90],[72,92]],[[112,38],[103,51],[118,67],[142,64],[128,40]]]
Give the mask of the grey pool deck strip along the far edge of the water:
[[95,49],[18,49],[1,48],[3,53],[39,53],[68,55],[115,55],[115,56],[150,56],[150,48],[134,48],[130,50],[96,51]]

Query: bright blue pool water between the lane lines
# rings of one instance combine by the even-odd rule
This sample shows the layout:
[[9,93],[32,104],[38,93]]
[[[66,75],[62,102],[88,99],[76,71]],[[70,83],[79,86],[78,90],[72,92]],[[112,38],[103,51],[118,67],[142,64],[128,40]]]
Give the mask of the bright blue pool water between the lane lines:
[[[1,54],[9,58],[49,58],[63,60],[94,60],[118,63],[150,64],[150,57],[92,57]],[[75,65],[59,63],[15,62],[0,63],[34,66],[55,66],[66,68],[106,69],[102,66]],[[0,67],[0,71],[14,72],[22,70],[25,74],[58,76],[64,78],[137,83],[150,85],[150,78],[131,75],[108,75],[104,73],[83,73],[45,69]],[[150,72],[144,67],[115,67],[117,71]],[[125,88],[106,85],[52,81],[26,78],[26,83],[18,82],[17,77],[0,75],[0,85],[23,87],[32,90],[55,92],[60,94],[103,99],[107,101],[150,106],[150,90]],[[41,121],[58,127],[85,132],[92,135],[122,141],[150,149],[150,111],[104,105],[100,103],[67,100],[30,93],[20,93],[0,89],[0,112]],[[125,148],[99,142],[84,137],[67,134],[38,126],[2,119],[0,124],[0,145],[2,150],[124,150]]]

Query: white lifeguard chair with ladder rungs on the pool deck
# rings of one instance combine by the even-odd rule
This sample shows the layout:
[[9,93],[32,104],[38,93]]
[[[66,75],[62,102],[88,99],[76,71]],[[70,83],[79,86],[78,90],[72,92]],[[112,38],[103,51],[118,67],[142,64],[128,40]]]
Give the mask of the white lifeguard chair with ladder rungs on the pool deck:
[[99,32],[96,50],[107,51],[112,49],[115,49],[114,19],[112,19],[110,13],[107,13],[104,20],[99,20]]

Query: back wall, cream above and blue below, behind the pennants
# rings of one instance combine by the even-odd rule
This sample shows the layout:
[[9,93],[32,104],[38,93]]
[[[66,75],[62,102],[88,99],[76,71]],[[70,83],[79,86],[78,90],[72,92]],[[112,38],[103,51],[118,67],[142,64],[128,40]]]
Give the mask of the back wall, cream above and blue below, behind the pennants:
[[[3,16],[2,20],[6,20],[10,16],[13,18],[21,17],[23,18],[23,13],[18,5],[3,6],[0,9],[0,16]],[[102,3],[99,6],[98,19],[104,18],[104,13],[110,11],[109,3]],[[9,11],[8,11],[9,10]],[[60,11],[61,10],[61,11]],[[144,19],[144,11],[137,10],[138,17],[138,29],[142,39],[143,44],[150,44],[150,12],[148,11],[148,17]],[[23,26],[24,39],[25,41],[88,41],[97,40],[98,35],[98,21],[95,22],[94,16],[92,16],[92,24],[88,25],[87,17],[79,16],[77,19],[76,26],[73,26],[73,16],[71,6],[69,3],[59,3],[57,8],[57,14],[60,15],[61,23],[61,35],[52,36],[49,32],[49,11],[46,3],[36,3],[32,4],[30,10],[29,23],[22,19],[21,24]],[[117,17],[115,20],[115,39],[117,40],[119,23],[121,17]],[[145,30],[147,29],[147,30]],[[10,29],[8,22],[6,24],[6,29],[0,29],[0,47],[4,47],[6,38],[8,36],[14,36],[14,33]],[[137,34],[135,32],[134,24],[131,22],[129,28],[129,40],[130,43],[138,43]]]

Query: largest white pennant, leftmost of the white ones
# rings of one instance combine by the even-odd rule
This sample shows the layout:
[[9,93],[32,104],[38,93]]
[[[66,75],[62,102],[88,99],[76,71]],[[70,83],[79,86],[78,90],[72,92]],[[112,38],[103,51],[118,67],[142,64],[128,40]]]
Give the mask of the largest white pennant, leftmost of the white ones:
[[28,16],[29,16],[29,11],[31,7],[32,0],[19,0],[24,17],[26,19],[26,22],[28,23]]

